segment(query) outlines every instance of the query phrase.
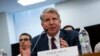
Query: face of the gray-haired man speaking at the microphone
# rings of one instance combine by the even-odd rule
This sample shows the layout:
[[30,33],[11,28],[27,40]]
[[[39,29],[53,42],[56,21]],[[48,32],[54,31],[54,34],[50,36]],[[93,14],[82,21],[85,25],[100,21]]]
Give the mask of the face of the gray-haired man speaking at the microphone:
[[54,36],[61,27],[61,20],[55,13],[45,13],[41,24],[48,34]]

